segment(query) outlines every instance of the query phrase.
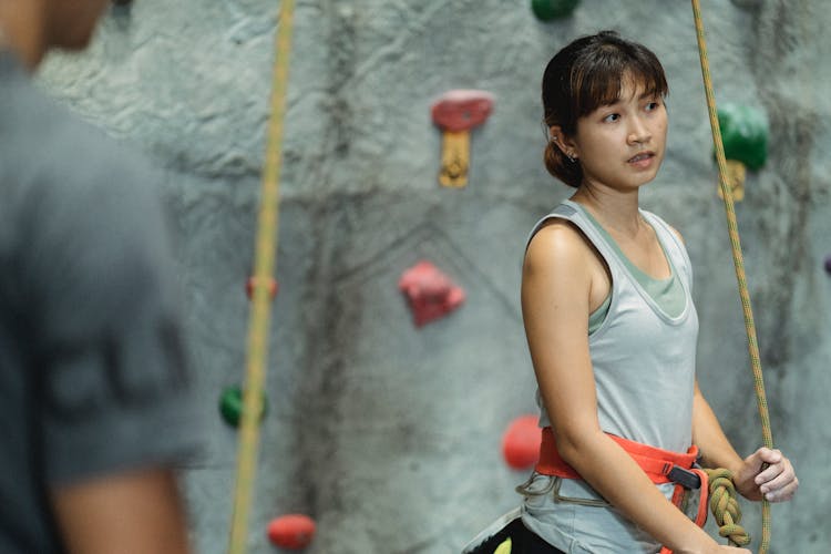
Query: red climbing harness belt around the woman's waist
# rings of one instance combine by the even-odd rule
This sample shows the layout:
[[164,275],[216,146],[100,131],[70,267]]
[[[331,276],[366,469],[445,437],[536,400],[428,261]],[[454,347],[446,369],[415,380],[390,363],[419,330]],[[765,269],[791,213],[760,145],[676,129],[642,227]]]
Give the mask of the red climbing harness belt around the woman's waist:
[[[614,434],[608,435],[618,443],[635,462],[644,470],[644,473],[655,484],[675,483],[673,492],[673,504],[681,507],[685,490],[701,489],[701,497],[696,514],[696,525],[702,527],[707,521],[707,473],[693,465],[698,458],[698,447],[695,444],[686,453],[670,452],[640,442],[622,439]],[[553,475],[562,479],[582,479],[574,468],[568,465],[560,456],[554,433],[550,427],[543,429],[542,442],[540,444],[540,461],[534,468],[537,473]],[[664,547],[661,554],[670,551]]]

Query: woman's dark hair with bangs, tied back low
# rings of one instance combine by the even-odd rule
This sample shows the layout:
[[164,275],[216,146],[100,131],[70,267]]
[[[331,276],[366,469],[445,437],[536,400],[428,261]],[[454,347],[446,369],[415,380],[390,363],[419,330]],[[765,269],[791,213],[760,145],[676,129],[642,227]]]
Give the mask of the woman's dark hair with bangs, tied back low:
[[[624,79],[643,84],[645,92],[666,96],[669,92],[664,68],[646,47],[622,39],[614,31],[579,38],[551,59],[543,74],[543,110],[546,131],[560,125],[574,136],[577,120],[603,105],[615,103]],[[581,164],[572,162],[548,138],[545,167],[566,185],[583,181]]]

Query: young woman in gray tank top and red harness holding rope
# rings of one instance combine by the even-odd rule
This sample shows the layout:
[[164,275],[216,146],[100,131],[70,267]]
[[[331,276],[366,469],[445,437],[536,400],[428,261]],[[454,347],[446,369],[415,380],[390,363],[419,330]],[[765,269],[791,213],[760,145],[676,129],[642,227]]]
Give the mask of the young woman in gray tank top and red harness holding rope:
[[541,462],[520,488],[521,517],[471,552],[507,536],[513,554],[749,552],[676,507],[681,484],[702,476],[695,450],[685,456],[693,444],[748,499],[798,488],[779,451],[742,460],[698,389],[690,261],[680,235],[638,206],[666,151],[666,94],[655,54],[609,31],[545,70],[545,164],[576,191],[535,226],[523,266]]

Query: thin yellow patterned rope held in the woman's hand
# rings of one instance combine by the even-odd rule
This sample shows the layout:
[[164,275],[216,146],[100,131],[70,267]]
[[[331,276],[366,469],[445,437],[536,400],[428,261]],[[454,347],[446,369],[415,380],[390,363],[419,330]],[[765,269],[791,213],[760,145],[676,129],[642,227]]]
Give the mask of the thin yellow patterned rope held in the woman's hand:
[[[732,202],[732,189],[727,181],[727,161],[725,158],[725,146],[721,143],[721,131],[718,124],[718,112],[716,111],[716,98],[712,92],[712,81],[710,79],[710,65],[707,60],[707,43],[704,39],[704,23],[701,21],[701,8],[698,0],[693,1],[693,16],[696,22],[696,34],[698,35],[698,53],[701,60],[701,75],[704,76],[704,88],[707,95],[707,109],[710,114],[710,127],[712,129],[712,143],[716,147],[716,160],[718,162],[719,186],[725,201],[725,211],[727,212],[727,230],[730,235],[730,245],[732,249],[732,260],[736,266],[736,278],[739,281],[739,296],[741,297],[741,307],[745,312],[745,327],[747,329],[748,350],[750,352],[750,365],[753,370],[753,388],[756,389],[756,399],[759,407],[759,418],[761,420],[762,440],[767,448],[773,448],[773,435],[770,429],[770,418],[768,416],[768,401],[765,394],[765,380],[762,378],[761,360],[759,357],[759,345],[756,340],[756,325],[753,324],[753,312],[750,308],[750,294],[748,293],[747,279],[745,277],[745,261],[741,255],[741,242],[739,240],[739,227],[736,223],[736,211]],[[759,545],[759,554],[768,552],[770,544],[770,503],[762,499],[762,537]]]

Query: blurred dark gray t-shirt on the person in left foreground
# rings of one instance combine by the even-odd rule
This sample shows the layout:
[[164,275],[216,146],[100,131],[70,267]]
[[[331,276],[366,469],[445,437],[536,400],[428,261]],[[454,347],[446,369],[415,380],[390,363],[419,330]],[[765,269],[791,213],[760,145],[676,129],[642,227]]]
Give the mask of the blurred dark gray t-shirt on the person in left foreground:
[[158,181],[0,52],[2,553],[62,552],[51,486],[198,447]]

